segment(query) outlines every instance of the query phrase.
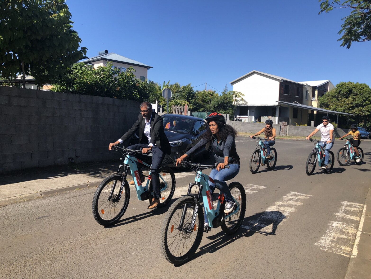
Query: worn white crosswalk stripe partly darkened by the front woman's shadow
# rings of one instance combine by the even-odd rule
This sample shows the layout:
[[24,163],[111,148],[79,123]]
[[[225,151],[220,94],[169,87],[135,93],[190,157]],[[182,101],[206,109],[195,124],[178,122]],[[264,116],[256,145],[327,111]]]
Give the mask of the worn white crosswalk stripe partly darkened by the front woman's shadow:
[[300,201],[310,197],[312,195],[290,192],[269,206],[265,212],[256,214],[256,218],[247,222],[248,225],[241,227],[261,234],[274,234],[278,224],[287,219],[292,212],[295,212],[298,206],[303,205]]

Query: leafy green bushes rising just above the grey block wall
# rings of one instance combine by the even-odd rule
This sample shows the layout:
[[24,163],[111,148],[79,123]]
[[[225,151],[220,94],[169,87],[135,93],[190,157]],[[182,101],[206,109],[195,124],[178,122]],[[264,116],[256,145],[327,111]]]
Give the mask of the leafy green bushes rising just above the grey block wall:
[[142,102],[150,97],[146,82],[135,77],[132,67],[123,73],[112,69],[112,62],[105,67],[94,68],[84,63],[75,63],[64,77],[53,84],[52,91],[83,95],[113,97]]

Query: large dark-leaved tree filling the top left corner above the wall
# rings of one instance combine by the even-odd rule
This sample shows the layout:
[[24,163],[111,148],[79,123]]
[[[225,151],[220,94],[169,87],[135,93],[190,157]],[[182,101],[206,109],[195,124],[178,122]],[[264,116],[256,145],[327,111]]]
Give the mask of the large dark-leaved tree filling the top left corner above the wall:
[[86,55],[65,0],[0,1],[0,74],[31,74],[38,85],[58,80]]

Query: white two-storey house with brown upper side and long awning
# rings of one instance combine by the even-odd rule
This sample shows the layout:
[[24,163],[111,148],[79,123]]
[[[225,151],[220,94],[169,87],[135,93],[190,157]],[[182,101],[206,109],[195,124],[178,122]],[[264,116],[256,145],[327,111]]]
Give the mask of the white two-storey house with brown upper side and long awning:
[[310,126],[311,121],[318,122],[316,116],[350,115],[318,108],[318,97],[334,88],[329,80],[299,82],[254,70],[230,84],[233,91],[243,93],[246,101],[236,104],[235,115],[243,121],[272,119],[274,124],[284,121],[288,125]]

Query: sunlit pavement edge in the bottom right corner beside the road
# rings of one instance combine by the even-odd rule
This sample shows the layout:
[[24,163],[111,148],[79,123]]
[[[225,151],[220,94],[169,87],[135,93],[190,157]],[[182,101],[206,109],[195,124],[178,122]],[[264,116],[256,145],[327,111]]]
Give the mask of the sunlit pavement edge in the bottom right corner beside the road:
[[359,228],[362,232],[359,237],[358,254],[349,259],[344,279],[371,279],[371,188],[368,190],[365,206],[363,226]]

